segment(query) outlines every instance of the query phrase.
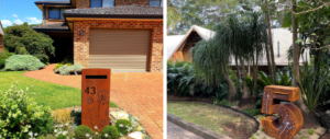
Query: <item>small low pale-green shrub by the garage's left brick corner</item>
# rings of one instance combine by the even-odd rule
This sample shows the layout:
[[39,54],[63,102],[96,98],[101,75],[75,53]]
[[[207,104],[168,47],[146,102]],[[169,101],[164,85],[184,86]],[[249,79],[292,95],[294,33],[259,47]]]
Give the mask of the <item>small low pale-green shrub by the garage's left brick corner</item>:
[[[59,66],[57,66],[57,67],[59,67]],[[79,63],[73,65],[73,66],[65,65],[65,66],[62,66],[62,67],[55,69],[55,73],[59,73],[61,76],[70,76],[72,73],[75,73],[76,76],[78,76],[81,73],[81,70],[84,68],[85,67]]]

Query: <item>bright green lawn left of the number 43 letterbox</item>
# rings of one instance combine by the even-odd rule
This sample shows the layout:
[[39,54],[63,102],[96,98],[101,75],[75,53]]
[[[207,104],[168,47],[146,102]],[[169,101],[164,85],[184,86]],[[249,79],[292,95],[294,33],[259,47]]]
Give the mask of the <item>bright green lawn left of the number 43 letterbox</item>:
[[[9,89],[11,84],[19,81],[19,89],[33,85],[30,92],[35,95],[31,97],[34,97],[40,105],[51,106],[52,109],[81,105],[81,90],[28,78],[22,74],[23,72],[25,71],[0,72],[0,91]],[[110,106],[118,107],[114,103],[110,103]]]

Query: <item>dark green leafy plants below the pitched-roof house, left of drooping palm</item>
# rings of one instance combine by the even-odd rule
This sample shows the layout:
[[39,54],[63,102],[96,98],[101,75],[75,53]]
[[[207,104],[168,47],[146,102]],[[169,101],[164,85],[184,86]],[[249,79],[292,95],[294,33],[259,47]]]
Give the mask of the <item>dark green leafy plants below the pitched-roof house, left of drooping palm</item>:
[[[223,77],[221,79],[224,82]],[[197,80],[194,65],[178,60],[167,61],[167,89],[170,93],[180,96],[216,96],[218,94],[218,97],[221,96],[222,100],[228,94],[227,84],[207,85],[204,83],[204,79]]]

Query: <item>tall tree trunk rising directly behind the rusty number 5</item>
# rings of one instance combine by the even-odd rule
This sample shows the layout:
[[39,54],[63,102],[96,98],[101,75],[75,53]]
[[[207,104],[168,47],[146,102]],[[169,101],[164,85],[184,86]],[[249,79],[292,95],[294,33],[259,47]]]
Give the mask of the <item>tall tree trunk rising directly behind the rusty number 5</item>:
[[[293,11],[296,11],[296,0],[293,0]],[[299,48],[298,44],[296,44],[296,40],[298,38],[297,34],[297,18],[293,13],[293,43],[294,43],[294,72],[296,73],[296,77],[293,77],[293,86],[298,86],[298,81],[300,80],[299,77]],[[297,78],[297,79],[296,79]],[[301,92],[300,92],[301,93]],[[301,94],[300,99],[295,102],[295,105],[300,109],[302,117],[304,117],[304,126],[302,129],[308,129],[311,127],[319,127],[319,123],[317,121],[316,117],[308,111],[307,106],[305,105]]]

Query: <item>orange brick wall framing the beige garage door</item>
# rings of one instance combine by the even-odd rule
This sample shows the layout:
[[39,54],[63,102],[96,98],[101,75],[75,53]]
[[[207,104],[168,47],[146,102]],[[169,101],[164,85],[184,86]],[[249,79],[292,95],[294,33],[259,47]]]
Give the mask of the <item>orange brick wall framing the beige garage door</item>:
[[[89,65],[89,28],[152,28],[151,54],[148,71],[161,72],[163,65],[163,21],[130,21],[130,20],[86,20],[74,23],[74,61],[85,67]],[[80,36],[79,32],[85,35]]]

